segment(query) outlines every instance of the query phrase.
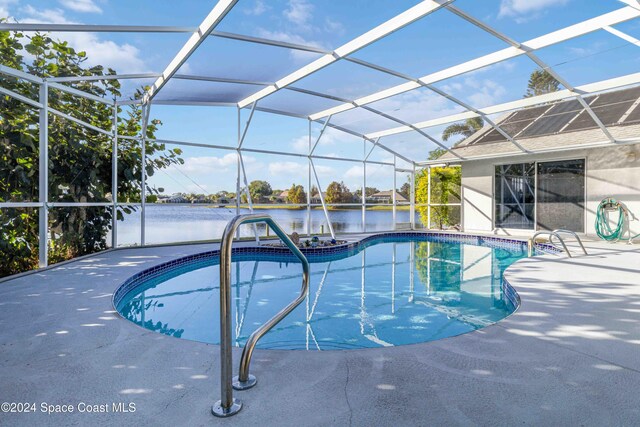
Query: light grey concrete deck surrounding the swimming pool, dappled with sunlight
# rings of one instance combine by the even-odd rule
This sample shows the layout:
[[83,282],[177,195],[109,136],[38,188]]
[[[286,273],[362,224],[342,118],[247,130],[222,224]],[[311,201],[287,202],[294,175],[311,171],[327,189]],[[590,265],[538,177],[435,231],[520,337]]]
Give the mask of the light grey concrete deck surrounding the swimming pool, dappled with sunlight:
[[[244,409],[211,415],[219,347],[123,320],[128,277],[212,245],[110,251],[0,283],[0,425],[638,425],[640,245],[588,242],[505,273],[522,298],[498,324],[399,347],[256,350]],[[212,325],[217,327],[217,325]],[[239,351],[234,353],[237,363]],[[134,413],[77,405],[134,403]],[[42,403],[74,405],[45,414]]]

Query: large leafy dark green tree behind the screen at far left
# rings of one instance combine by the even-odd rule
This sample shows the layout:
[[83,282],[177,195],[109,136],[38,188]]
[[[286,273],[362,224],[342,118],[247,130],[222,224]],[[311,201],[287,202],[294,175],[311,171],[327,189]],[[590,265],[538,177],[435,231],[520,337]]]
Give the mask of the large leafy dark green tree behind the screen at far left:
[[[28,59],[24,52],[28,53]],[[66,42],[36,33],[0,32],[0,63],[47,78],[60,76],[103,76],[115,74],[102,66],[85,67],[85,52],[77,52]],[[3,78],[3,87],[31,99],[38,99],[35,84]],[[118,80],[87,80],[72,87],[103,98],[120,95]],[[140,99],[142,91],[135,97]],[[109,130],[113,107],[49,88],[49,106],[93,126]],[[118,108],[118,134],[140,138],[142,110],[132,105]],[[38,110],[9,96],[0,97],[0,201],[37,201],[40,155]],[[159,120],[150,120],[146,136],[155,139]],[[57,115],[49,115],[49,202],[109,202],[112,200],[112,139],[109,135],[76,125]],[[152,176],[158,169],[182,163],[179,149],[147,142],[145,170]],[[139,140],[119,141],[118,199],[139,202],[141,185]],[[147,187],[147,194],[157,190]],[[119,206],[118,220],[136,210]],[[37,267],[38,209],[0,210],[0,276]],[[61,207],[49,209],[49,259],[57,262],[107,248],[113,212],[104,207]]]

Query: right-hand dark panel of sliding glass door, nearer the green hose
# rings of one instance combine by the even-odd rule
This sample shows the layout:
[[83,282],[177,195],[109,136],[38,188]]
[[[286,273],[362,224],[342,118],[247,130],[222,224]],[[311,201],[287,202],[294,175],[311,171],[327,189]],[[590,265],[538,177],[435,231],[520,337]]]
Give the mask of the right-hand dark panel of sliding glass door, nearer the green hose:
[[584,232],[585,161],[538,163],[536,225]]

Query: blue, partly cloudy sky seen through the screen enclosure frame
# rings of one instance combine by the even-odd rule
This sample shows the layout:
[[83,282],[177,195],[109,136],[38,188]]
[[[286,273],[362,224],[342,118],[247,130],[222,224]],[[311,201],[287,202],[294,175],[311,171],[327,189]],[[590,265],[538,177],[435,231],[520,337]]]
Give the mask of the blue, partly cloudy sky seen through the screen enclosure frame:
[[[332,50],[368,29],[418,3],[416,0],[240,0],[216,28],[257,37],[277,39]],[[0,0],[0,16],[18,22],[83,23],[123,25],[197,26],[215,2],[182,0]],[[625,6],[618,0],[457,0],[454,5],[517,41],[527,41],[565,26]],[[640,38],[640,22],[633,20],[617,29]],[[189,34],[58,33],[78,50],[85,50],[88,65],[101,64],[118,73],[161,72],[180,50]],[[421,77],[507,47],[478,27],[441,10],[369,45],[355,58],[384,66],[412,77]],[[598,31],[538,51],[539,57],[572,85],[596,82],[638,71],[638,47],[606,31]],[[179,73],[273,82],[312,62],[319,55],[210,37],[181,67]],[[537,65],[521,56],[435,84],[474,107],[516,100],[526,90]],[[125,96],[152,79],[129,82]],[[403,83],[404,80],[346,61],[308,76],[294,86],[355,99]],[[260,87],[224,83],[170,81],[158,100],[182,97],[192,100],[237,102]],[[259,106],[287,108],[302,115],[339,104],[310,95],[279,91]],[[428,89],[417,89],[371,104],[398,118],[417,122],[453,114],[457,104]],[[242,112],[244,123],[249,115]],[[232,147],[237,144],[237,111],[227,107],[153,106],[152,117],[163,125],[158,138]],[[398,126],[397,123],[363,110],[332,117],[332,123],[360,133]],[[244,147],[304,153],[309,143],[308,122],[303,119],[256,112]],[[315,141],[321,124],[312,125]],[[444,126],[428,129],[441,140]],[[421,135],[405,133],[383,138],[381,143],[412,160],[425,160],[435,144]],[[448,145],[452,141],[449,141]],[[337,130],[328,130],[316,154],[361,159],[362,140]],[[234,151],[183,147],[185,164],[156,173],[150,183],[166,193],[215,193],[234,190],[237,156]],[[371,160],[393,163],[393,155],[374,148]],[[306,184],[307,160],[299,157],[244,153],[249,181],[264,179],[274,188]],[[317,160],[321,186],[343,180],[350,188],[362,185],[362,164]],[[410,165],[398,160],[397,167]],[[367,185],[390,189],[392,166],[368,165]],[[406,173],[396,173],[397,186]],[[315,181],[315,180],[314,180]],[[314,182],[315,184],[315,182]]]

